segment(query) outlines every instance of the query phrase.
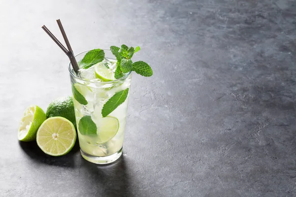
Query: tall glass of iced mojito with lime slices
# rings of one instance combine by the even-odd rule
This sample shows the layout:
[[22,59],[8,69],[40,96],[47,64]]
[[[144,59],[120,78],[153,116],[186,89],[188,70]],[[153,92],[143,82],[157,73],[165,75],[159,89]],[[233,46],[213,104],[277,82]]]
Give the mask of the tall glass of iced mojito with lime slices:
[[[110,51],[104,51],[106,55],[103,61],[80,69],[78,75],[69,66],[81,155],[97,164],[111,163],[122,154],[132,76],[128,72],[115,79],[117,61]],[[86,53],[77,55],[76,59],[83,59]],[[118,93],[122,96],[122,92],[126,99],[110,114],[103,114],[103,117],[102,110],[107,101]]]

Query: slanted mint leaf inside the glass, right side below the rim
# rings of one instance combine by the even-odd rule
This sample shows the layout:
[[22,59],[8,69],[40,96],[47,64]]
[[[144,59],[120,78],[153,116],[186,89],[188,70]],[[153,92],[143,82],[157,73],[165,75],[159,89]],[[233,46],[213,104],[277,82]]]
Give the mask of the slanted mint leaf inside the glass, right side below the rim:
[[128,88],[120,92],[115,93],[103,106],[102,116],[108,116],[114,109],[121,105],[128,95]]

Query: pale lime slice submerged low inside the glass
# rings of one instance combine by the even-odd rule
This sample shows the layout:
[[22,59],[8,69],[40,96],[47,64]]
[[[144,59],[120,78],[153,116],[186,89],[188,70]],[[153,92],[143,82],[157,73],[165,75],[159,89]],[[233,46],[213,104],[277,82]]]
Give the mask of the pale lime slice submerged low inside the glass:
[[107,116],[102,118],[99,130],[97,134],[99,135],[100,141],[98,143],[105,143],[111,140],[117,133],[119,129],[119,121],[117,118]]

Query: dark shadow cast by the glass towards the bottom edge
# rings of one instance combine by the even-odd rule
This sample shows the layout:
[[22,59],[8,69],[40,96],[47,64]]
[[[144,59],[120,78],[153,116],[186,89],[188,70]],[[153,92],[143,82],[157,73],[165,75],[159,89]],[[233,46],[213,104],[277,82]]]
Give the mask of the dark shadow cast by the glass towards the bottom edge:
[[[104,197],[121,197],[131,196],[130,183],[126,159],[121,156],[115,163],[109,165],[92,164],[85,160],[82,165],[88,172],[88,179],[92,179],[91,183],[86,183],[85,187],[89,187],[88,191],[93,191]],[[94,191],[95,189],[95,191]]]

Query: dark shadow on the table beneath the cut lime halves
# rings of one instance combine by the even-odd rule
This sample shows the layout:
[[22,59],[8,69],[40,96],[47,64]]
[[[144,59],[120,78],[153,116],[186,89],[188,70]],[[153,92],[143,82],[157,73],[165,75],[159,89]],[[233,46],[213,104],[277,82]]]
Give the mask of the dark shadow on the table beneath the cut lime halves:
[[66,155],[61,157],[53,157],[50,155],[46,155],[43,151],[38,147],[36,141],[32,142],[22,142],[19,141],[19,144],[23,151],[35,162],[62,166],[62,167],[74,167],[74,154],[79,151],[79,142],[76,140],[73,149]]

